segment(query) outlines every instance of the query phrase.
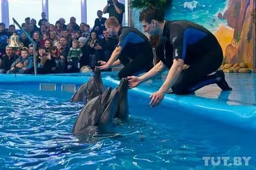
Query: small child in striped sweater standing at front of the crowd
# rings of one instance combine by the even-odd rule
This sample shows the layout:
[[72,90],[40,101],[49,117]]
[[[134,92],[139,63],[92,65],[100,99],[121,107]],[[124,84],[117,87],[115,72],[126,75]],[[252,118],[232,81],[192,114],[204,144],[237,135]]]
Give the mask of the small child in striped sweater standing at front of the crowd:
[[77,72],[80,69],[80,58],[83,56],[81,48],[79,48],[79,42],[74,39],[72,41],[72,47],[68,52],[67,61],[68,61],[68,70],[71,72]]

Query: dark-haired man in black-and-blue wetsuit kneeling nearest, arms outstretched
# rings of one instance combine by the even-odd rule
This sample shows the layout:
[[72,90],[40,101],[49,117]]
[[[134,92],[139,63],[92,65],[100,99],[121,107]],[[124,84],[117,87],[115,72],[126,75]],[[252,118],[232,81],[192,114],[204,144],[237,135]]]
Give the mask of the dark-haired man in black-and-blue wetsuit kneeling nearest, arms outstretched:
[[[169,68],[159,91],[150,96],[151,106],[160,104],[170,88],[177,95],[189,94],[209,84],[217,84],[222,90],[231,90],[223,71],[209,75],[221,66],[223,59],[221,46],[211,32],[190,21],[165,21],[162,13],[155,8],[144,9],[139,19],[145,32],[162,35],[161,43],[156,48],[160,62],[145,75],[128,77],[130,87]],[[185,65],[187,67],[183,69]]]

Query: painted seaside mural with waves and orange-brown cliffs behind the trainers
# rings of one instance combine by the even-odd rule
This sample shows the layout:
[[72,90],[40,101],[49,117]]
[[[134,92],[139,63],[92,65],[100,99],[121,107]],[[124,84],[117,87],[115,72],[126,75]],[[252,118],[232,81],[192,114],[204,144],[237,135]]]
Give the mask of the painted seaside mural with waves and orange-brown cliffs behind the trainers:
[[[251,19],[255,0],[173,0],[166,20],[187,19],[209,29],[221,44],[224,63],[253,63],[255,27]],[[133,26],[142,31],[139,10],[133,9]]]

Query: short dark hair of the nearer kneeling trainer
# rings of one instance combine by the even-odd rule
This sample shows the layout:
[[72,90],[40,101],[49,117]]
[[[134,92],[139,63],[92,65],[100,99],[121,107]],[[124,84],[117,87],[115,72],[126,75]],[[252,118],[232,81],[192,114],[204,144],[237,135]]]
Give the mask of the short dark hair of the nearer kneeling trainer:
[[155,19],[158,22],[163,22],[162,12],[153,6],[143,9],[142,12],[140,12],[140,22],[145,21],[150,24],[152,19]]

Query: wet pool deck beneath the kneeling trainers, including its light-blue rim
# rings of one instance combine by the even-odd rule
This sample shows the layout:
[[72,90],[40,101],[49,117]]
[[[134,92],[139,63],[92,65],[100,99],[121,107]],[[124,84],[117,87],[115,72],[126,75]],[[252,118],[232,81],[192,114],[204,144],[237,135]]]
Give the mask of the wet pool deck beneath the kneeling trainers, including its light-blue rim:
[[[87,74],[56,74],[56,75],[0,75],[0,83],[21,82],[52,82],[83,84],[92,73]],[[116,86],[117,72],[102,72],[105,86]],[[129,94],[140,95],[142,98],[159,89],[166,74],[158,79],[143,83],[129,90]],[[161,105],[175,105],[192,114],[206,116],[227,122],[241,128],[256,131],[256,74],[225,74],[232,91],[221,91],[217,85],[208,85],[192,95],[165,95]],[[160,106],[160,105],[159,105]]]

